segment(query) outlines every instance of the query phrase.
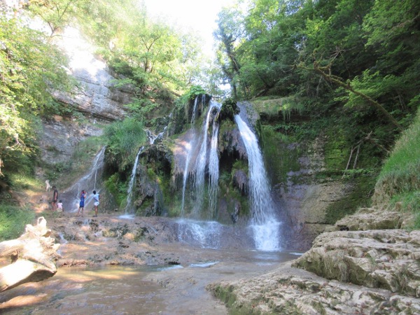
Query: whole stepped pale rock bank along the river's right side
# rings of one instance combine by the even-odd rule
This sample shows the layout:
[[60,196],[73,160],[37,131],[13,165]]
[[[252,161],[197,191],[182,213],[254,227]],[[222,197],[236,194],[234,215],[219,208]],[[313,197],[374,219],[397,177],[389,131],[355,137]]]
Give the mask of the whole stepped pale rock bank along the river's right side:
[[[241,314],[420,314],[419,231],[374,230],[401,221],[394,212],[360,209],[290,264],[209,290]],[[357,222],[360,230],[351,231]]]

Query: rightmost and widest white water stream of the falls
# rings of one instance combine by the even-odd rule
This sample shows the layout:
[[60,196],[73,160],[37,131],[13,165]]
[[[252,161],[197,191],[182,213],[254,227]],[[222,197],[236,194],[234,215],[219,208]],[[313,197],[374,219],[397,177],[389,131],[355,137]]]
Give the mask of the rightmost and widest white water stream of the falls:
[[262,154],[255,134],[239,115],[235,116],[248,155],[249,197],[252,210],[251,230],[255,248],[279,250],[279,221],[276,220]]

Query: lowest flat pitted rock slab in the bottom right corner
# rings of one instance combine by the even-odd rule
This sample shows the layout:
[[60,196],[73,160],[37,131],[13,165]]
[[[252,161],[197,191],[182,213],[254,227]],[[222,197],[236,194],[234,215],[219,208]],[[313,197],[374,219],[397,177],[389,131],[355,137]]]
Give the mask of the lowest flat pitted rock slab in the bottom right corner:
[[286,263],[263,276],[207,287],[234,314],[419,314],[420,300],[390,290],[328,281]]

